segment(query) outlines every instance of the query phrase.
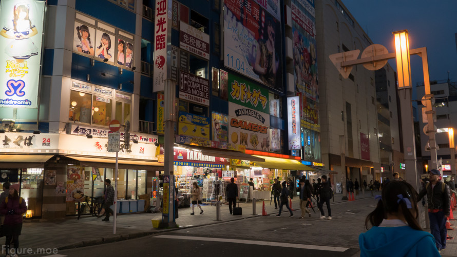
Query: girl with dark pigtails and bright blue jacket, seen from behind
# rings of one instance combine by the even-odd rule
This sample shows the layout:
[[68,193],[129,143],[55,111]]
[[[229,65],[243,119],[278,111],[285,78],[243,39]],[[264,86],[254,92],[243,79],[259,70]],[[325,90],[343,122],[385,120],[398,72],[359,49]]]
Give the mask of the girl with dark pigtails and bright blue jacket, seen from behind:
[[383,188],[376,209],[368,214],[365,227],[370,230],[358,237],[361,257],[376,256],[440,256],[433,236],[417,222],[417,192],[400,181]]

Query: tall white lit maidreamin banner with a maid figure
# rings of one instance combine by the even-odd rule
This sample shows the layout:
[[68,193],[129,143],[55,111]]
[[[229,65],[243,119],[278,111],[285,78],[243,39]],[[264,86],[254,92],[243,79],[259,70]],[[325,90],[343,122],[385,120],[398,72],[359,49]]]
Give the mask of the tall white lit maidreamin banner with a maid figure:
[[0,107],[37,108],[44,1],[0,3]]

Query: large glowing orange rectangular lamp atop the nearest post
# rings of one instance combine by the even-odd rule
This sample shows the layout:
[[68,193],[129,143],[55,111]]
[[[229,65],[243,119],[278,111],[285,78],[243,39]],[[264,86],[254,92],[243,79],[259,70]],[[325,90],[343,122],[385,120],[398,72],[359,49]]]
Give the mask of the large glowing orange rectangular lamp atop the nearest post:
[[409,58],[408,30],[392,32],[395,37],[398,88],[411,87],[411,63]]

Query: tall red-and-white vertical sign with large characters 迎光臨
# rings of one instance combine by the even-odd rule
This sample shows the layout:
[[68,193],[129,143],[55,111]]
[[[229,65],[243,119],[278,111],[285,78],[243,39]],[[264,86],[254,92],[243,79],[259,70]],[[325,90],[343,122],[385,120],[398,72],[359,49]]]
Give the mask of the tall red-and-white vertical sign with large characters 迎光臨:
[[[156,0],[154,19],[154,92],[163,91],[167,79],[167,44],[170,42],[167,0]],[[171,18],[171,12],[170,12]]]

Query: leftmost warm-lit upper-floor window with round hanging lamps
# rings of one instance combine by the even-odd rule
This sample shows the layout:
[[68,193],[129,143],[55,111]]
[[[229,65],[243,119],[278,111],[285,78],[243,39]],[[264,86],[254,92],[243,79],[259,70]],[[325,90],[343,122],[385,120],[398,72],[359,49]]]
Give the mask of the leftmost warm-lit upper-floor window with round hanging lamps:
[[91,100],[91,94],[71,90],[69,120],[90,124]]

